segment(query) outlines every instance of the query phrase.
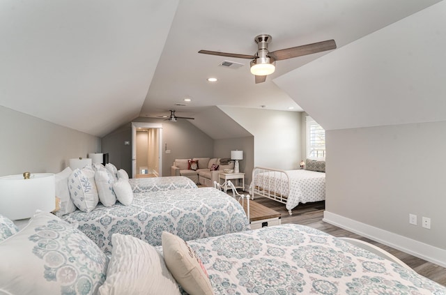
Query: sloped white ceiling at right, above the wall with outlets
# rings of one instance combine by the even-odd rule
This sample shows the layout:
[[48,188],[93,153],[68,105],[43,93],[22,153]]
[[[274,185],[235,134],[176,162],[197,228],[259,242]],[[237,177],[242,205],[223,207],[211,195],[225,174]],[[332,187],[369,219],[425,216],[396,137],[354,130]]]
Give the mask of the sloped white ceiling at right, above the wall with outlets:
[[446,1],[278,77],[325,130],[446,120]]

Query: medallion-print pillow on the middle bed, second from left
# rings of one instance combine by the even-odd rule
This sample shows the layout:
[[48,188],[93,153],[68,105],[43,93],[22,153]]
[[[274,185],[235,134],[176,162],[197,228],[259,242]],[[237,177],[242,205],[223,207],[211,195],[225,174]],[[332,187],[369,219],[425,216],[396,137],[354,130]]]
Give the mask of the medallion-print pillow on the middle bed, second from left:
[[89,167],[75,169],[68,177],[68,190],[73,203],[80,211],[90,212],[99,203],[95,172]]

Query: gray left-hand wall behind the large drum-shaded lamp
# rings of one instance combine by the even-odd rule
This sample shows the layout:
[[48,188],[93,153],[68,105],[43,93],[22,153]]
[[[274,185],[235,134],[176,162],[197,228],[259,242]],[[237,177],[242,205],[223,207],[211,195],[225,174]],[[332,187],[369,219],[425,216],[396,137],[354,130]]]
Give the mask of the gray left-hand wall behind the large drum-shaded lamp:
[[100,138],[0,106],[0,176],[50,172],[101,151]]

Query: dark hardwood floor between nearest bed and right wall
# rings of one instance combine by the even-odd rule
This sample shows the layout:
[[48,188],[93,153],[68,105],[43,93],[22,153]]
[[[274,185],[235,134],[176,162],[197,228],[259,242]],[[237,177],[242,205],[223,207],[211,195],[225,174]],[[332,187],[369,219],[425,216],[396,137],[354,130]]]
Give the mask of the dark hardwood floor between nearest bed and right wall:
[[413,268],[417,273],[424,275],[426,278],[438,282],[440,285],[446,286],[446,268],[433,264],[431,262],[426,262],[423,259],[409,255],[405,252],[401,252],[397,249],[390,248],[387,245],[371,241],[370,239],[364,238],[354,234],[353,232],[348,232],[345,229],[330,225],[327,222],[323,222],[323,211],[325,210],[325,202],[314,202],[307,204],[299,204],[295,209],[293,209],[293,215],[289,215],[288,210],[286,210],[285,205],[279,202],[272,201],[266,197],[256,197],[254,202],[263,204],[279,213],[282,213],[282,224],[285,223],[298,223],[300,225],[307,225],[309,227],[314,227],[332,234],[333,236],[347,236],[350,238],[360,239],[367,241],[373,245],[383,248],[387,252],[390,252],[395,257],[401,259],[408,266]]

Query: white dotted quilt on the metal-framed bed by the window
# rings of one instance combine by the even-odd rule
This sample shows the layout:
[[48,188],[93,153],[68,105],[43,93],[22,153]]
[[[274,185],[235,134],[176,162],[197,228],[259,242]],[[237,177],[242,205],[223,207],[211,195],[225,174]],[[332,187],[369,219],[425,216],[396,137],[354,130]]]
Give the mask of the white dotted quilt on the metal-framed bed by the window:
[[309,170],[287,170],[291,183],[280,172],[259,173],[254,178],[254,186],[282,194],[286,199],[286,209],[291,211],[299,203],[318,202],[325,199],[325,173]]

